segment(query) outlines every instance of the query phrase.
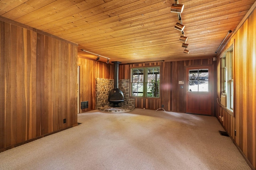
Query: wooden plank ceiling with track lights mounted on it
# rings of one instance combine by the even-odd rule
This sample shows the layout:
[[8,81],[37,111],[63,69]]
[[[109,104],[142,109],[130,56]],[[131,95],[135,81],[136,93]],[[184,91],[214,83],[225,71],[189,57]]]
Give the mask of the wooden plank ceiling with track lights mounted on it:
[[174,29],[175,0],[0,0],[0,16],[78,43],[80,57],[96,59],[94,53],[110,63],[177,61],[215,57],[254,2],[179,0],[189,54]]

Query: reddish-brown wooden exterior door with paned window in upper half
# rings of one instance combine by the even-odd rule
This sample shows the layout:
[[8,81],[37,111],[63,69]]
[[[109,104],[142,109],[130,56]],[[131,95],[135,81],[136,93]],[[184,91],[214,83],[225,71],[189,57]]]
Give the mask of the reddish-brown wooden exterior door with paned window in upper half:
[[186,68],[186,113],[213,115],[212,66]]

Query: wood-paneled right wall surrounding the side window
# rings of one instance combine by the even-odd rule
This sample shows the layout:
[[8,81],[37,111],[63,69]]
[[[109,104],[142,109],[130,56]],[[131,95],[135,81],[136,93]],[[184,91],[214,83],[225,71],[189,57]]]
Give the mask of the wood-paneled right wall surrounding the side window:
[[[218,106],[217,118],[219,115],[224,117],[224,121],[221,121],[222,125],[256,168],[256,10],[234,33],[221,53],[232,44],[234,44],[234,117]],[[220,98],[219,59],[217,71],[217,92]]]

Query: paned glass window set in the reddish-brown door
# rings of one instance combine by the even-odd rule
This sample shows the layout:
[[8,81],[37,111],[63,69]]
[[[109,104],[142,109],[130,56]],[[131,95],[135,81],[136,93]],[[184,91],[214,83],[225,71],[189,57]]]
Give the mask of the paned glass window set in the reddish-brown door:
[[189,70],[189,90],[192,92],[208,92],[208,69]]

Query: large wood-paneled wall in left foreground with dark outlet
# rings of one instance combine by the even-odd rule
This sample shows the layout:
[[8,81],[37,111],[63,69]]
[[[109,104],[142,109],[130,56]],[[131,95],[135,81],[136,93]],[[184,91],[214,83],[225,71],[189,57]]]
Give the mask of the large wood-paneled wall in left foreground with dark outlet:
[[0,151],[77,125],[76,68],[76,44],[0,21]]

